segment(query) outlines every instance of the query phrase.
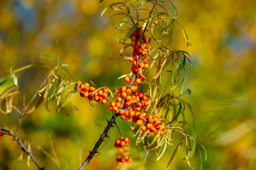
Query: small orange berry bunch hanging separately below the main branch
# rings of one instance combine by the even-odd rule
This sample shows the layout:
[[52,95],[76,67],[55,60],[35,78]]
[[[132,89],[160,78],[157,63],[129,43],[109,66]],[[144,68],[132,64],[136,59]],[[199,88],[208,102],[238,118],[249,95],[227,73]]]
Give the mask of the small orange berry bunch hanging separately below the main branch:
[[131,158],[128,156],[129,154],[129,144],[130,138],[125,137],[124,139],[116,139],[115,147],[116,147],[116,161],[119,166],[127,165],[127,163],[131,162]]

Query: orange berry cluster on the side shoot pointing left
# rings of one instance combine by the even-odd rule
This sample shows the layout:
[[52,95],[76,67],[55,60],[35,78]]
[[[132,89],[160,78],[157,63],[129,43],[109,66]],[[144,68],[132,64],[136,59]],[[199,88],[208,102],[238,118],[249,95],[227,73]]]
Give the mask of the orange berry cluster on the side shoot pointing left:
[[[79,85],[80,84],[80,85]],[[108,88],[104,87],[103,90],[98,90],[97,92],[94,92],[96,89],[93,86],[90,86],[89,83],[82,84],[81,81],[77,81],[76,86],[74,86],[74,89],[77,88],[79,85],[79,93],[81,97],[88,98],[89,101],[92,101],[93,99],[96,102],[102,102],[102,104],[107,104],[107,97],[108,97]]]

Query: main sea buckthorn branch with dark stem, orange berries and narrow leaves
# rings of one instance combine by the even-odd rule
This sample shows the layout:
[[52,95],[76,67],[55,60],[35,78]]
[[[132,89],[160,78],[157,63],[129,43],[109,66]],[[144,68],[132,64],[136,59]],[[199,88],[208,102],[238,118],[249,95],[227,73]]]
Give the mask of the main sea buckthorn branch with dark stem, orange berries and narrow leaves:
[[[184,111],[186,107],[191,110],[191,106],[180,97],[190,93],[189,89],[183,91],[183,85],[187,78],[186,60],[189,61],[191,66],[193,65],[189,60],[190,56],[187,52],[171,49],[175,22],[182,29],[187,44],[191,44],[183,26],[177,19],[177,10],[171,1],[171,5],[168,5],[162,0],[144,0],[140,4],[137,3],[136,7],[136,4],[133,4],[134,2],[135,0],[126,0],[124,3],[113,3],[102,12],[104,14],[109,8],[115,11],[124,11],[117,13],[125,14],[125,17],[116,29],[119,29],[125,23],[131,26],[126,29],[128,32],[120,30],[120,32],[115,34],[126,34],[125,37],[117,40],[117,42],[122,43],[124,46],[120,50],[118,58],[110,58],[111,60],[123,58],[132,63],[131,73],[118,78],[124,78],[128,85],[116,88],[115,92],[117,92],[117,95],[112,101],[108,98],[108,88],[106,87],[104,87],[103,91],[100,89],[96,90],[92,86],[89,87],[87,83],[81,84],[80,81],[74,87],[80,92],[81,97],[86,97],[89,101],[93,100],[93,98],[96,102],[101,101],[102,104],[107,104],[109,101],[108,109],[113,111],[111,121],[108,122],[104,133],[100,136],[99,141],[79,170],[83,170],[94,154],[98,153],[100,144],[107,137],[108,130],[112,124],[116,124],[115,119],[118,116],[122,120],[135,123],[132,130],[137,129],[134,135],[137,136],[137,144],[143,142],[143,144],[146,144],[145,148],[150,147],[152,150],[156,150],[157,160],[166,152],[167,146],[169,144],[172,145],[173,132],[181,133],[183,137],[175,148],[167,167],[179,146],[186,141],[187,152],[182,162],[187,163],[189,167],[194,169],[190,161],[195,148],[199,146],[204,148],[204,146],[195,139],[194,132],[193,135],[187,135],[183,133],[182,127],[177,126],[183,124],[184,127],[185,124],[188,124],[185,120]],[[151,11],[141,8],[145,3],[152,4]],[[163,11],[159,11],[157,7],[160,7]],[[140,11],[142,10],[149,12],[148,18],[140,19]],[[137,17],[132,15],[132,11]],[[168,11],[171,11],[173,17],[169,16]],[[161,37],[161,40],[159,40],[159,37]],[[127,40],[131,40],[131,43],[126,43]],[[133,49],[131,54],[128,48],[130,46]],[[166,69],[167,66],[168,70]],[[152,76],[153,70],[156,71],[154,76]],[[169,73],[169,80],[166,82],[165,72]],[[177,95],[174,89],[180,84],[182,72],[184,72],[185,76],[181,82],[181,92]],[[111,92],[111,95],[113,97],[113,92]],[[183,121],[178,121],[180,116],[183,116]],[[116,161],[119,166],[122,166],[131,162],[131,158],[128,157],[130,139],[128,137],[122,138],[121,132],[120,135],[121,138],[116,139],[114,146],[117,148]],[[191,142],[190,148],[188,138]]]

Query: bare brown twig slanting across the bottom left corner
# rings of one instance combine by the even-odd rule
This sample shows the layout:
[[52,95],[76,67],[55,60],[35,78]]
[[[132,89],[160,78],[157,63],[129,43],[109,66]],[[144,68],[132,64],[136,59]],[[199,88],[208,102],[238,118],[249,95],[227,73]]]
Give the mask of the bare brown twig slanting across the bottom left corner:
[[9,130],[8,127],[6,126],[4,126],[4,128],[0,127],[0,138],[2,137],[2,131],[5,132],[4,134],[12,136],[13,140],[17,141],[17,144],[20,145],[21,150],[30,156],[30,160],[36,164],[36,166],[38,167],[38,170],[44,170],[44,167],[41,167],[41,165],[39,164],[39,161],[32,154],[32,151],[29,151],[29,149],[25,146],[25,144],[23,144],[20,138],[17,138],[17,135],[13,133],[12,130]]

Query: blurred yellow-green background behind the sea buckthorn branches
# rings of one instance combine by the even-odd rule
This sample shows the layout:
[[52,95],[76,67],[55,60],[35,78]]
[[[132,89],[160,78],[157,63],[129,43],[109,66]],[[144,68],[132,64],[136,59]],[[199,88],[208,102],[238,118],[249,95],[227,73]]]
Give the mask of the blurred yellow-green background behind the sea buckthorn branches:
[[[9,75],[14,69],[29,63],[41,62],[54,64],[40,58],[41,55],[57,55],[55,40],[59,43],[61,63],[69,64],[68,70],[83,83],[93,81],[97,87],[113,88],[113,82],[130,71],[128,61],[110,61],[117,57],[120,43],[111,37],[117,30],[115,26],[122,16],[109,18],[115,12],[108,10],[102,17],[102,10],[112,1],[105,0],[1,0],[0,1],[0,77]],[[195,68],[187,66],[189,79],[185,87],[192,90],[186,96],[195,113],[194,129],[198,141],[207,148],[208,158],[203,162],[203,170],[254,170],[256,169],[256,1],[244,0],[173,0],[182,15],[183,26],[192,46],[186,47],[186,41],[178,25],[175,26],[175,38],[172,48],[184,50],[192,56]],[[148,4],[145,8],[151,8]],[[143,16],[148,13],[141,11]],[[125,28],[125,27],[124,27]],[[48,70],[41,67],[20,72],[21,92],[26,100],[36,91],[47,75]],[[117,83],[117,86],[121,83]],[[49,131],[61,167],[78,169],[89,150],[92,150],[103,128],[108,106],[94,104],[91,107],[85,98],[76,97],[75,104],[80,111],[68,104],[66,109],[70,117],[55,112],[54,101],[49,102],[48,112],[44,105],[27,116],[18,137],[28,139],[35,157],[46,170],[58,167],[37,146],[51,153]],[[189,115],[190,113],[187,112]],[[190,116],[191,117],[191,116]],[[0,124],[15,130],[17,112],[0,115]],[[192,124],[192,119],[188,120]],[[118,119],[124,136],[134,134],[128,123]],[[189,128],[185,128],[190,132]],[[110,141],[100,150],[100,155],[92,159],[87,170],[113,170],[116,165],[113,147],[119,133],[114,128],[109,135]],[[180,140],[175,135],[174,144]],[[185,147],[181,147],[172,164],[166,164],[174,150],[169,146],[167,152],[156,161],[152,152],[145,162],[145,170],[185,170],[186,164],[180,164],[185,156]],[[135,146],[131,139],[131,166],[143,163],[145,152],[141,144]],[[27,167],[26,156],[23,162],[12,161],[20,152],[15,141],[9,136],[0,140],[0,170],[36,169],[33,162]],[[202,152],[204,157],[204,153]],[[192,158],[192,166],[200,168],[198,150]],[[137,168],[141,169],[141,168]]]

